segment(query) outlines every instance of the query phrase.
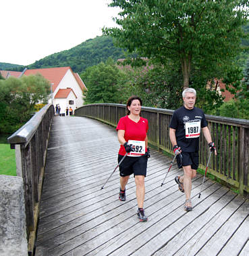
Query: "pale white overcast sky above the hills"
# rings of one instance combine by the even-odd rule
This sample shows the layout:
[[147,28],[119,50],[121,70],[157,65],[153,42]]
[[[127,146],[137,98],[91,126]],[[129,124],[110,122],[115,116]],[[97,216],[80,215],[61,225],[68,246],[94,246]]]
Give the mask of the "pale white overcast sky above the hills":
[[110,0],[1,1],[0,62],[28,65],[115,26]]

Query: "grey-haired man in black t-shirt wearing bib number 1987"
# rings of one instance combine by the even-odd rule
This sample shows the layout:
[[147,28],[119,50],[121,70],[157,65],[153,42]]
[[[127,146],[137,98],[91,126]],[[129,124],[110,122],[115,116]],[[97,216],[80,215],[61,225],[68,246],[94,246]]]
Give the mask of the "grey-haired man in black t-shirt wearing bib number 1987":
[[[177,165],[184,169],[183,176],[176,176],[175,182],[179,190],[186,195],[184,209],[192,211],[190,200],[192,179],[196,176],[199,165],[199,137],[202,130],[211,151],[217,154],[215,143],[212,142],[211,133],[207,127],[204,112],[194,106],[196,102],[196,90],[187,88],[182,93],[184,106],[173,113],[169,125],[169,137],[174,153],[177,155]],[[181,155],[180,155],[181,154]],[[182,157],[180,157],[182,156]]]

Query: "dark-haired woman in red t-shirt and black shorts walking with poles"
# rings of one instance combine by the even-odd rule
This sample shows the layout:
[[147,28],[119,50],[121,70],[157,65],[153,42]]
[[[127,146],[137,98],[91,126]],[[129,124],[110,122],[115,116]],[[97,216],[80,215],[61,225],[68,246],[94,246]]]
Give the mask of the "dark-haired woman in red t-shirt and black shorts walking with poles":
[[144,196],[147,161],[150,157],[148,148],[148,120],[140,116],[142,100],[138,96],[132,96],[126,104],[126,116],[121,117],[117,124],[117,138],[120,143],[118,163],[127,154],[119,165],[120,191],[119,200],[126,200],[126,184],[133,173],[136,184],[136,198],[138,201],[138,218],[147,221],[144,215]]

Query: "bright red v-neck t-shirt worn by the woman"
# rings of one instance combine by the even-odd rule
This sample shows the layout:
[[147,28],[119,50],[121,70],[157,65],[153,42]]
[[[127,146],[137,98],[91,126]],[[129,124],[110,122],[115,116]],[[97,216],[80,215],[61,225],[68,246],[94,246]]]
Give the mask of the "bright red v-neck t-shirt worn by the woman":
[[[146,138],[146,134],[148,131],[148,120],[140,117],[138,123],[129,119],[128,116],[123,116],[119,119],[119,123],[117,124],[116,130],[124,130],[124,139],[126,142],[128,140],[140,140],[144,141]],[[145,149],[147,152],[147,148]],[[126,154],[126,149],[123,145],[120,145],[119,154],[124,156]]]

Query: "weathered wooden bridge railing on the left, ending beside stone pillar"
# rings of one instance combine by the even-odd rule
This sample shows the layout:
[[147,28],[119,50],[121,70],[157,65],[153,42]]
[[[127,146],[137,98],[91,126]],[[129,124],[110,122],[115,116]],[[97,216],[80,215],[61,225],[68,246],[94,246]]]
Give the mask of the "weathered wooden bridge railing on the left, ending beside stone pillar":
[[16,174],[24,182],[29,253],[33,251],[30,247],[34,247],[47,143],[54,114],[53,105],[47,104],[7,139],[11,148],[16,151]]

